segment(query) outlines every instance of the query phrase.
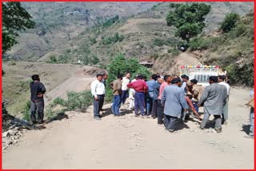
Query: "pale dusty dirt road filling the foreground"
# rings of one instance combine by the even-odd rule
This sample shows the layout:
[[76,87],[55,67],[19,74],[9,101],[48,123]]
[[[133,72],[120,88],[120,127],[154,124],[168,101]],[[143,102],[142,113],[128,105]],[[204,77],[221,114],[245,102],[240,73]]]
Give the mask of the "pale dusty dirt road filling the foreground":
[[[169,133],[152,118],[114,117],[105,105],[102,121],[87,113],[66,113],[46,129],[30,131],[2,153],[3,169],[253,169],[254,140],[244,137],[249,111],[248,89],[231,89],[228,125],[198,129],[191,118]],[[210,119],[213,119],[212,117]]]

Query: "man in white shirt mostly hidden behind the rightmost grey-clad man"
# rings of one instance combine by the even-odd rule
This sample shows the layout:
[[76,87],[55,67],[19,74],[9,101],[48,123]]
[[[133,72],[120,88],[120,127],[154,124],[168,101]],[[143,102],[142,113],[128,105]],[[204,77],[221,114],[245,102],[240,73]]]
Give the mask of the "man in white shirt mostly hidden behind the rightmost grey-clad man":
[[222,124],[227,124],[227,119],[228,119],[228,101],[229,101],[229,96],[230,96],[230,85],[224,82],[225,76],[224,75],[219,75],[218,76],[218,84],[220,85],[225,85],[226,86],[226,93],[227,93],[227,98],[226,98],[226,105],[223,106],[222,110]]

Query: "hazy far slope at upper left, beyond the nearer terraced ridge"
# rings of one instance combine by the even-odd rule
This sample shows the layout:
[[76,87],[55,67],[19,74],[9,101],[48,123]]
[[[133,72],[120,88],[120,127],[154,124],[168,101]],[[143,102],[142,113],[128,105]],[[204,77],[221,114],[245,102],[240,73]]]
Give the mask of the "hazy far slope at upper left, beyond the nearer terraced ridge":
[[71,39],[106,18],[137,14],[154,4],[156,2],[22,2],[36,27],[20,34],[19,44],[6,57],[36,61],[54,50],[66,49]]

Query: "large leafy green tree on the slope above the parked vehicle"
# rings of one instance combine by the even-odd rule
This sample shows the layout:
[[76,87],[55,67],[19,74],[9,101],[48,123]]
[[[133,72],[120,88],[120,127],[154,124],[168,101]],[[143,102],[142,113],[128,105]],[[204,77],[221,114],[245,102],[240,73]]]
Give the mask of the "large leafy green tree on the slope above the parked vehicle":
[[205,3],[182,4],[173,7],[175,10],[166,15],[167,26],[175,26],[178,29],[175,35],[189,42],[190,38],[202,32],[205,27],[205,16],[209,14],[211,7]]

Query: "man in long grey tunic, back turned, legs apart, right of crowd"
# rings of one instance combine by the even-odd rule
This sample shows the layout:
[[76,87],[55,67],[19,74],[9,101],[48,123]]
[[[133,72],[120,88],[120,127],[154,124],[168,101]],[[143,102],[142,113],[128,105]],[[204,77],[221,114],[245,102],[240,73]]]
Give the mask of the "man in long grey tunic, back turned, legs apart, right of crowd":
[[210,76],[210,85],[206,86],[206,89],[202,93],[202,97],[198,102],[198,107],[204,104],[204,117],[200,128],[204,129],[210,115],[214,115],[215,118],[215,130],[217,133],[222,132],[222,108],[226,103],[227,91],[224,85],[218,84],[218,77]]

